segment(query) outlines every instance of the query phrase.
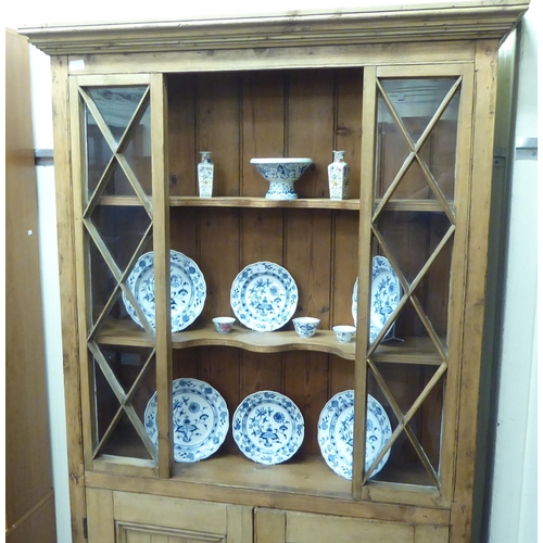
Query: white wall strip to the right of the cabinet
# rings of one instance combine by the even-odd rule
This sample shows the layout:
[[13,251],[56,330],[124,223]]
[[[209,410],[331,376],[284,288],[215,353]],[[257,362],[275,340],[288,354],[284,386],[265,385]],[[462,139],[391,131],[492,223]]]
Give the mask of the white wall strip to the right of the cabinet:
[[[541,1],[523,20],[516,138],[538,137]],[[536,541],[538,161],[513,166],[490,543]]]

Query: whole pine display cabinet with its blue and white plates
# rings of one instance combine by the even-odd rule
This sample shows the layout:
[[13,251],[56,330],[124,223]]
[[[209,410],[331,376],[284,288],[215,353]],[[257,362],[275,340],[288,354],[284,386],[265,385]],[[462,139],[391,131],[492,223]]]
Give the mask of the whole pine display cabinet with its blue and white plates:
[[[527,9],[20,29],[52,58],[74,542],[477,541],[496,60]],[[251,160],[285,157],[298,198],[266,198]]]

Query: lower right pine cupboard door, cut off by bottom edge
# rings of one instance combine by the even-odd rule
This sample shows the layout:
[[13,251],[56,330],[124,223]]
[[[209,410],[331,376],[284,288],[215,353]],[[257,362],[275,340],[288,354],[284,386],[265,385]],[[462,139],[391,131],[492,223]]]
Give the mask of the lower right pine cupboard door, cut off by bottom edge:
[[330,515],[255,510],[255,543],[446,543],[449,527]]

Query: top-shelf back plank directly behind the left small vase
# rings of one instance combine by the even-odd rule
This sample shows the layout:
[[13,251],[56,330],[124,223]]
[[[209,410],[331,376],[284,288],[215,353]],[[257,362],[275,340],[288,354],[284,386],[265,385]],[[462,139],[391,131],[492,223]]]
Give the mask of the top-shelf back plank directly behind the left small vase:
[[239,87],[238,74],[197,77],[197,153],[212,152],[214,195],[240,194]]

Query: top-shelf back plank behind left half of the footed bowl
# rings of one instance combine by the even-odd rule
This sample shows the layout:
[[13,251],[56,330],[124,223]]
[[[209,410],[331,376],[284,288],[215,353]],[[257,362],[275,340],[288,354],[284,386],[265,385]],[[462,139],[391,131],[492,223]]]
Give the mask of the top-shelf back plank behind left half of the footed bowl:
[[250,160],[283,156],[285,76],[282,71],[249,72],[242,85],[241,195],[263,197],[269,184]]

